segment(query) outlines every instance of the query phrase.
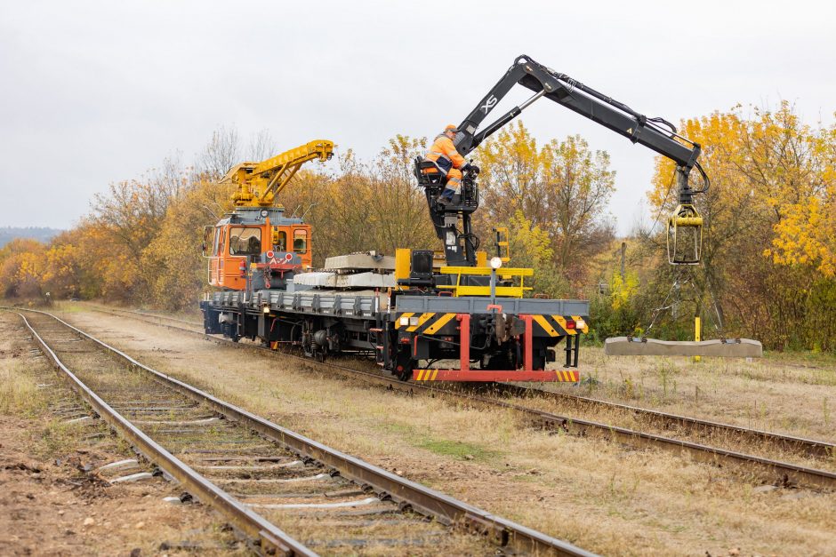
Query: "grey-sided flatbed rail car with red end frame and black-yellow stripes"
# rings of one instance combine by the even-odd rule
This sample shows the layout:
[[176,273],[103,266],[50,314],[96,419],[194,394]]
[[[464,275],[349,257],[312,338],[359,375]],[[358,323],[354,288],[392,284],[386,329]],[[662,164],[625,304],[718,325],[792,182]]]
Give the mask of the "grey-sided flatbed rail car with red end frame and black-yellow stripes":
[[[261,339],[274,349],[300,346],[320,360],[374,354],[403,380],[574,382],[580,335],[589,330],[583,300],[226,290],[213,292],[201,308],[208,334]],[[565,355],[558,358],[561,341]],[[430,367],[446,360],[460,367]],[[558,360],[564,369],[545,370]]]

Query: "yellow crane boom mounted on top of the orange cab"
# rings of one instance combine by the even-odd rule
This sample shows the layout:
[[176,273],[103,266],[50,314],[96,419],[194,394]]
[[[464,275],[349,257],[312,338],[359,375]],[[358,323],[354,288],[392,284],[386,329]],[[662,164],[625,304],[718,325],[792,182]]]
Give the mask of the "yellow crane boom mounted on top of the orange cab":
[[236,207],[281,207],[275,203],[281,192],[302,164],[319,159],[327,161],[334,155],[334,141],[317,139],[305,145],[271,156],[261,163],[240,163],[229,169],[221,184],[238,185],[232,195]]

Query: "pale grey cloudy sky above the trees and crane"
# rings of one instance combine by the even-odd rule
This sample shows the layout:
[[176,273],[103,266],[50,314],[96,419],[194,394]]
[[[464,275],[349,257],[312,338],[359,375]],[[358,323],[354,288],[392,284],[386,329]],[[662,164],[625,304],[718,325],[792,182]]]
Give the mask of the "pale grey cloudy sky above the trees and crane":
[[[789,99],[830,124],[834,6],[2,0],[0,226],[70,227],[109,182],[178,150],[191,163],[220,125],[371,158],[461,121],[520,53],[674,123]],[[546,100],[522,118],[541,143],[580,133],[609,152],[628,231],[653,153]]]

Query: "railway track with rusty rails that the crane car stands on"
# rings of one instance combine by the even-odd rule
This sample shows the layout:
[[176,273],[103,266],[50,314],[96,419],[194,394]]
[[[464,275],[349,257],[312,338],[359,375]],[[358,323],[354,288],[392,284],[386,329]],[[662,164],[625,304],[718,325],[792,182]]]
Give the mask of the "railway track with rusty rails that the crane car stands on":
[[[111,308],[96,308],[96,311],[114,314],[129,315],[135,319],[162,325],[174,330],[189,332],[200,337],[211,340],[225,346],[235,346],[239,349],[252,350],[258,354],[280,355],[282,357],[300,358],[305,362],[309,359],[301,358],[295,354],[285,352],[274,352],[266,347],[248,344],[245,342],[232,342],[224,338],[216,338],[206,335],[204,332],[194,329],[187,329],[178,325],[149,321],[144,318],[147,314],[137,314],[129,310],[113,310]],[[189,322],[189,326],[200,327],[202,325]],[[548,410],[538,410],[531,406],[525,406],[517,402],[510,402],[507,398],[501,399],[495,396],[483,396],[474,394],[470,390],[449,389],[428,384],[403,383],[394,378],[384,377],[379,373],[372,373],[364,370],[356,370],[346,365],[334,362],[318,362],[318,365],[327,366],[330,370],[339,372],[343,377],[360,379],[366,383],[382,386],[390,390],[398,390],[410,394],[428,394],[431,396],[448,396],[463,400],[470,405],[482,407],[502,407],[513,410],[537,425],[550,429],[559,429],[568,434],[583,436],[598,436],[622,442],[639,448],[653,447],[655,449],[667,450],[675,454],[686,454],[689,458],[697,461],[708,462],[714,465],[727,466],[736,469],[746,476],[754,475],[761,481],[766,481],[780,486],[802,487],[809,489],[836,489],[836,473],[821,470],[809,465],[798,465],[776,458],[765,458],[747,454],[739,450],[728,450],[705,442],[694,442],[686,439],[673,438],[661,434],[651,434],[627,427],[614,426],[612,424],[598,421],[580,419],[568,415],[557,414]],[[742,426],[734,426],[688,418],[676,414],[668,414],[656,410],[641,409],[614,402],[600,401],[571,394],[561,394],[553,391],[545,391],[530,386],[515,386],[502,384],[495,386],[495,391],[501,396],[514,396],[522,399],[523,402],[559,402],[571,403],[575,408],[596,408],[606,409],[623,415],[629,415],[638,420],[640,424],[655,426],[657,429],[675,432],[679,435],[695,435],[701,439],[713,442],[748,442],[751,445],[760,445],[766,450],[775,450],[782,454],[796,456],[799,458],[817,458],[820,461],[831,462],[836,458],[836,445],[829,442],[808,440],[800,437],[793,437],[784,434],[775,434]]]

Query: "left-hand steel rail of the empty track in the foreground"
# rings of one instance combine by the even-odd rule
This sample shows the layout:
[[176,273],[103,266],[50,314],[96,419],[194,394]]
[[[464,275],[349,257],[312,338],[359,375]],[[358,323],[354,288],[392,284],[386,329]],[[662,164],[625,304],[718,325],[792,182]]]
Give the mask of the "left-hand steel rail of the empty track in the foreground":
[[[35,310],[26,310],[35,311]],[[17,312],[15,312],[17,313]],[[44,313],[44,312],[38,312]],[[70,385],[86,401],[96,413],[99,414],[110,426],[115,427],[133,445],[149,458],[151,462],[162,468],[165,473],[180,481],[183,486],[207,505],[213,505],[226,515],[237,528],[241,529],[246,536],[258,540],[261,549],[275,551],[285,555],[317,555],[305,545],[288,536],[282,529],[267,521],[261,515],[253,513],[245,505],[230,497],[225,491],[206,480],[199,473],[195,472],[189,465],[183,463],[179,458],[165,450],[139,428],[133,426],[125,417],[114,410],[107,402],[104,402],[98,394],[92,392],[90,387],[84,385],[76,374],[68,369],[52,348],[46,344],[44,338],[28,322],[25,315],[17,313],[26,324],[32,337],[41,347],[44,354],[52,361],[58,370],[62,371],[70,381]],[[49,315],[49,314],[47,314]],[[89,337],[88,337],[89,338]]]

